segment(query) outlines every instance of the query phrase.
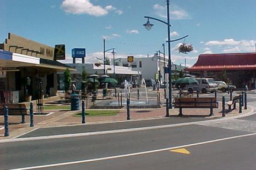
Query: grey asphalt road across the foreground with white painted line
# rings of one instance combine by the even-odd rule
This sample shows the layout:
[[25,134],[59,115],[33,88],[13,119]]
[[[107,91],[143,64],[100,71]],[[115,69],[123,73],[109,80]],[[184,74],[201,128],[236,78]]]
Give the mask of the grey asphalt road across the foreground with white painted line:
[[[134,132],[13,141],[0,143],[0,169],[255,169],[255,132],[252,115]],[[181,148],[190,153],[170,151]]]

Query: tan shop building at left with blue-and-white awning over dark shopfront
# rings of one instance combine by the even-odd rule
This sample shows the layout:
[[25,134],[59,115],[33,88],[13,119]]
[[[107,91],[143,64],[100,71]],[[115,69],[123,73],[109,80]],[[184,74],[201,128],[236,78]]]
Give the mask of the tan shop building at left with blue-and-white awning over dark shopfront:
[[39,88],[46,97],[57,93],[57,71],[67,68],[53,60],[54,48],[8,33],[0,44],[0,102],[37,99]]

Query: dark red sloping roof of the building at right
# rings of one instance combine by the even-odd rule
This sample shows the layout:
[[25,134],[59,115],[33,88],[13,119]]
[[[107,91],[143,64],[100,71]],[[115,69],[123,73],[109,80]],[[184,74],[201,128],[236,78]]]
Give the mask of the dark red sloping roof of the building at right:
[[186,71],[256,70],[256,53],[201,54]]

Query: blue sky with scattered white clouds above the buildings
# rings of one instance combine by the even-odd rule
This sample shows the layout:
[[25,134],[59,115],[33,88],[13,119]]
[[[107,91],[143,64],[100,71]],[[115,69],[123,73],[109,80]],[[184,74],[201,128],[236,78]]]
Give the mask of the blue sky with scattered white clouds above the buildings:
[[[255,0],[170,1],[171,39],[189,35],[184,42],[194,47],[182,54],[177,44],[183,40],[173,42],[173,63],[186,58],[193,65],[204,53],[255,52],[255,9]],[[72,48],[86,48],[87,62],[103,58],[103,38],[116,58],[152,56],[167,38],[161,22],[150,20],[150,31],[142,26],[144,16],[167,20],[165,0],[1,0],[0,11],[0,43],[12,32],[52,47],[66,44],[64,63],[71,62]]]

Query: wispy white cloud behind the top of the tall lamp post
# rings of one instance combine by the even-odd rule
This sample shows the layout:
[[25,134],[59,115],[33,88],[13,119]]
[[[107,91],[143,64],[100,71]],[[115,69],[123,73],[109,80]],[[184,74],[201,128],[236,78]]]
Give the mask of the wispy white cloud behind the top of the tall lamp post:
[[[159,5],[159,4],[155,4],[153,6],[153,9],[154,9],[155,14],[157,16],[160,16],[162,18],[167,18],[166,8],[165,7],[163,7],[163,6]],[[186,10],[178,7],[175,4],[171,5],[170,17],[171,17],[171,19],[175,19],[175,20],[190,19],[191,18],[189,16],[189,14],[186,12]]]

